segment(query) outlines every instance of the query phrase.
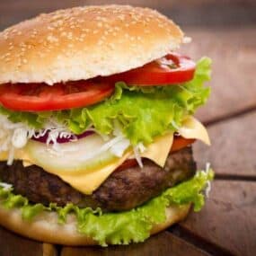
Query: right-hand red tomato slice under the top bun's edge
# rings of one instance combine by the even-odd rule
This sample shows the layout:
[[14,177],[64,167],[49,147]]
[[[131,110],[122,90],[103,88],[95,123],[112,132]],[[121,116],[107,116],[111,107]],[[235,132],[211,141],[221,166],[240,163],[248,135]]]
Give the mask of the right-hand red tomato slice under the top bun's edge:
[[104,78],[111,83],[123,81],[128,85],[170,85],[193,79],[195,68],[195,62],[189,57],[172,53],[145,66]]

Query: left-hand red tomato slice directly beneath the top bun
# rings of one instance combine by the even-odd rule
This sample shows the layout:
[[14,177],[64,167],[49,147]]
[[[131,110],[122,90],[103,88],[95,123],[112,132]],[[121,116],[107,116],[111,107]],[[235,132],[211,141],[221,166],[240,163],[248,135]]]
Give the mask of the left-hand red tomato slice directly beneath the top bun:
[[45,111],[69,110],[101,102],[114,92],[107,83],[88,81],[66,84],[3,84],[0,86],[0,103],[10,110]]

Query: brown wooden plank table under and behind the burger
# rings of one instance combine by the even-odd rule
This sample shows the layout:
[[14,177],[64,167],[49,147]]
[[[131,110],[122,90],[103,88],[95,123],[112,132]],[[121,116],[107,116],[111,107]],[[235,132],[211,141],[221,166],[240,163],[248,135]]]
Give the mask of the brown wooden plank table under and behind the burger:
[[[0,4],[0,12],[1,5],[8,9],[7,2]],[[67,6],[67,1],[63,2]],[[26,6],[21,6],[25,13]],[[31,9],[28,16],[38,12],[36,7]],[[243,21],[252,18],[244,17]],[[42,244],[0,228],[0,256],[256,255],[256,25],[245,22],[246,26],[237,26],[236,22],[222,29],[185,27],[193,41],[181,52],[213,59],[211,99],[198,113],[207,125],[212,146],[196,143],[194,152],[199,167],[212,164],[216,179],[201,212],[190,213],[185,221],[146,243],[106,249]],[[0,26],[3,24],[2,16]]]

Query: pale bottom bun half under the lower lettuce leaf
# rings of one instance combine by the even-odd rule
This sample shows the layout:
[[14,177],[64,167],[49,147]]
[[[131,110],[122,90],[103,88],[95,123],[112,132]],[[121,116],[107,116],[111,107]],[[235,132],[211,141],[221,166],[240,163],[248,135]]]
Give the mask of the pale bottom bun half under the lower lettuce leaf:
[[[166,220],[162,224],[154,225],[151,234],[156,234],[168,226],[181,221],[188,215],[190,205],[172,206],[166,208]],[[14,233],[22,234],[31,239],[44,243],[57,243],[63,245],[96,245],[93,238],[76,231],[75,216],[67,217],[65,225],[57,224],[57,214],[54,212],[43,212],[36,216],[33,221],[22,219],[21,210],[6,209],[0,206],[0,225],[12,230]]]

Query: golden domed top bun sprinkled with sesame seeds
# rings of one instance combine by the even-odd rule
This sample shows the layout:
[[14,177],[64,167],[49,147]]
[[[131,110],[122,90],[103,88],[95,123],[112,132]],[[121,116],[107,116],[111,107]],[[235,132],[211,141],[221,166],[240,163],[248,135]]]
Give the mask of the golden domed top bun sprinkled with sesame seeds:
[[0,33],[0,84],[75,81],[143,66],[177,49],[165,16],[125,5],[40,14]]

